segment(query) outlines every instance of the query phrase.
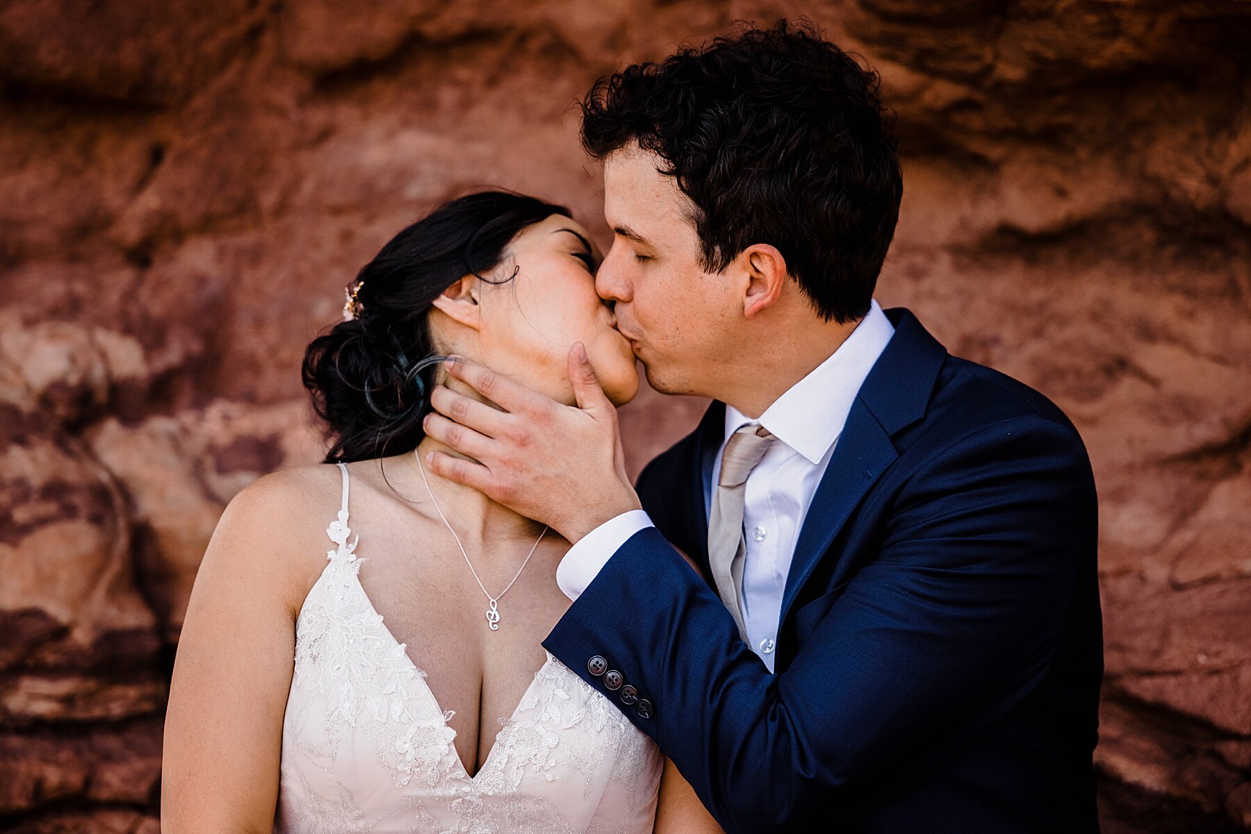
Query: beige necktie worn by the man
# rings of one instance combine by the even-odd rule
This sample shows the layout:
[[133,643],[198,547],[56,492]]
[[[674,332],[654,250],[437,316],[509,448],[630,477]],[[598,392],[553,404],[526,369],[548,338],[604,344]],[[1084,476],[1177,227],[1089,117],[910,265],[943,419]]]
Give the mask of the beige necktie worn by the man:
[[743,613],[738,598],[743,589],[743,559],[747,541],[743,539],[743,493],[747,476],[773,443],[773,435],[762,425],[744,425],[729,436],[721,458],[721,476],[712,496],[712,515],[708,519],[708,564],[717,585],[721,601],[734,616],[738,633],[747,640]]

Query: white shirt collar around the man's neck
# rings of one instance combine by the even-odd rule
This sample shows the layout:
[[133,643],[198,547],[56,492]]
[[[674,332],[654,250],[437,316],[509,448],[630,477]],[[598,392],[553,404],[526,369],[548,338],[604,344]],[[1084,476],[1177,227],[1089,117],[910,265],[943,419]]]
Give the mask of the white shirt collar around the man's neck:
[[868,315],[843,344],[776,399],[759,420],[726,404],[722,445],[744,424],[759,423],[813,465],[821,463],[842,433],[864,378],[893,335],[894,326],[874,299]]

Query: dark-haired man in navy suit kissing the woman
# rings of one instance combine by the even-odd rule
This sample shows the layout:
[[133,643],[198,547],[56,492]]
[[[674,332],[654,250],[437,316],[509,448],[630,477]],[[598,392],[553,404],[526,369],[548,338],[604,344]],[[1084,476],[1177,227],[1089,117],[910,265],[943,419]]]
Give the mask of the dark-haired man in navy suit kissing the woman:
[[873,301],[902,191],[876,78],[779,24],[583,116],[597,290],[656,389],[716,401],[636,494],[580,345],[579,408],[450,365],[502,410],[435,389],[428,431],[475,460],[430,465],[573,543],[544,645],[728,831],[1097,830],[1090,463],[1046,398]]

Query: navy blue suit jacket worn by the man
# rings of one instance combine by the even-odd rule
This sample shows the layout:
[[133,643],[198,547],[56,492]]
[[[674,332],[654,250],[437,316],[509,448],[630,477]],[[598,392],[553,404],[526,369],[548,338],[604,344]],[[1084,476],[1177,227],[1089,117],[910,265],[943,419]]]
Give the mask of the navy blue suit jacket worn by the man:
[[[721,403],[644,469],[657,528],[544,645],[657,740],[727,831],[1097,830],[1081,438],[1037,391],[950,356],[907,310],[887,315],[894,336],[801,529],[776,674],[669,544],[707,575],[702,461]],[[618,680],[593,656],[633,690],[605,685]]]

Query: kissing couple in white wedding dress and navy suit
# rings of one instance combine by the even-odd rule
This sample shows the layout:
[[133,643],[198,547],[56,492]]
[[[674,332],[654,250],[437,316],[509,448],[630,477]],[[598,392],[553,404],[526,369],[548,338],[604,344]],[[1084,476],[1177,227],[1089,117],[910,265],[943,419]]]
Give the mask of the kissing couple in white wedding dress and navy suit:
[[[582,141],[607,253],[472,194],[309,345],[330,449],[213,535],[164,830],[1097,830],[1087,454],[873,299],[877,76],[782,21],[600,79]],[[632,485],[637,361],[713,403]]]

